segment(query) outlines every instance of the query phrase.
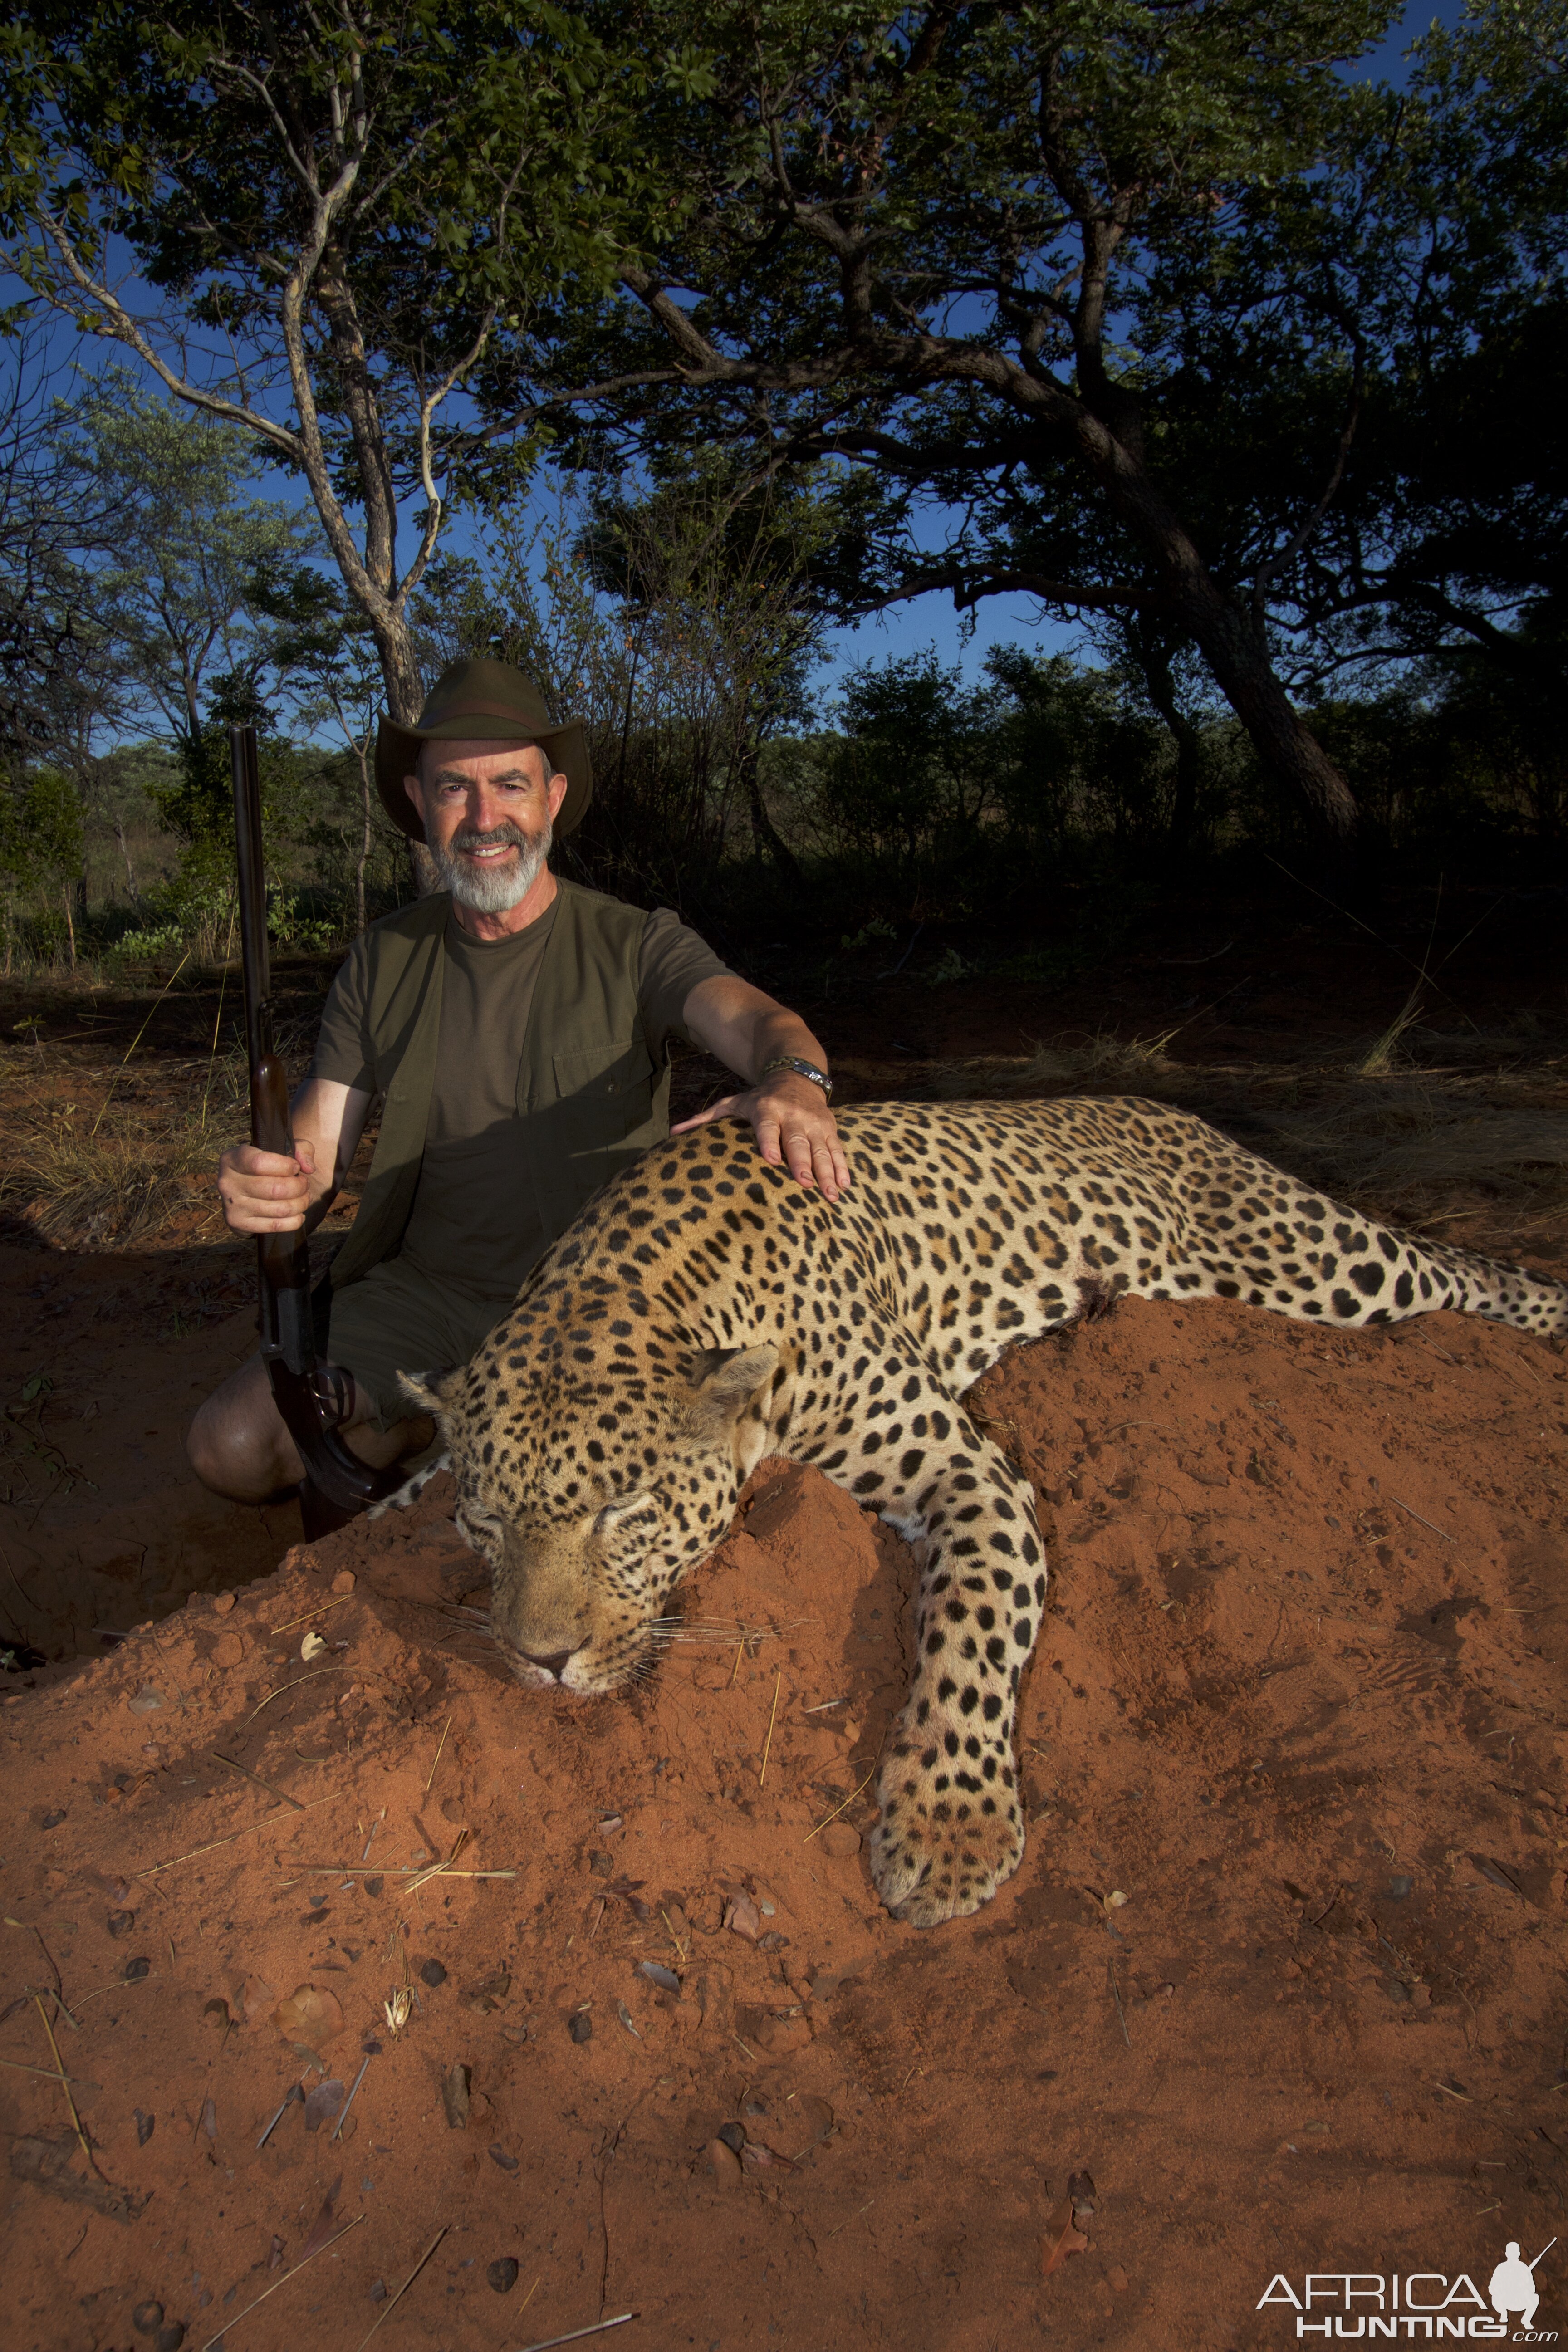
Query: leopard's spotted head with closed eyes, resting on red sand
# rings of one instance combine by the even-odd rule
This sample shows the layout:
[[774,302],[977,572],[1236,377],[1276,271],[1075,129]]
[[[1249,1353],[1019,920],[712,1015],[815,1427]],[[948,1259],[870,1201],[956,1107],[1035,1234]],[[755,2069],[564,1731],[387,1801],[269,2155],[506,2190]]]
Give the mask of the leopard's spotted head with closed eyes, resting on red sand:
[[766,1449],[778,1348],[703,1348],[682,1371],[529,1364],[508,1327],[454,1374],[400,1374],[433,1414],[456,1526],[491,1571],[520,1682],[614,1691],[646,1672],[675,1585],[724,1536]]

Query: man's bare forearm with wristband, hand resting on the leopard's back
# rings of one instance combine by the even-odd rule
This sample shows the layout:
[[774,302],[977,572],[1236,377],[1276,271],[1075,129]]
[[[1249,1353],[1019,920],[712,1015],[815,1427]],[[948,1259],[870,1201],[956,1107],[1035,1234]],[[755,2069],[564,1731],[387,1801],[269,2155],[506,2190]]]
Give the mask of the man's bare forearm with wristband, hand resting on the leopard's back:
[[825,1200],[839,1200],[849,1190],[849,1160],[823,1089],[797,1070],[757,1077],[766,1061],[785,1054],[813,1061],[818,1070],[827,1068],[827,1056],[799,1014],[726,974],[698,981],[682,1007],[682,1021],[701,1047],[750,1084],[670,1131],[684,1136],[708,1120],[750,1120],[764,1160],[788,1167],[799,1183],[820,1185]]

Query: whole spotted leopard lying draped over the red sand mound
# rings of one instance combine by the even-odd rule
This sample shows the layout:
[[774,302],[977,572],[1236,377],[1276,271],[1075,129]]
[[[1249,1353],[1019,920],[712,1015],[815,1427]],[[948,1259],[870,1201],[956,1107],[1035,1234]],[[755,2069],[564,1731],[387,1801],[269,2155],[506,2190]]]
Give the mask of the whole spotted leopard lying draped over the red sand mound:
[[872,1875],[924,1926],[1023,1856],[1011,1726],[1046,1599],[1027,1482],[959,1397],[1013,1341],[1133,1291],[1338,1329],[1458,1308],[1568,1329],[1568,1291],[1389,1232],[1140,1101],[849,1110],[830,1207],[736,1122],[649,1152],[524,1282],[475,1359],[404,1378],[522,1682],[644,1672],[670,1590],[766,1454],[917,1545],[919,1665],[882,1764]]

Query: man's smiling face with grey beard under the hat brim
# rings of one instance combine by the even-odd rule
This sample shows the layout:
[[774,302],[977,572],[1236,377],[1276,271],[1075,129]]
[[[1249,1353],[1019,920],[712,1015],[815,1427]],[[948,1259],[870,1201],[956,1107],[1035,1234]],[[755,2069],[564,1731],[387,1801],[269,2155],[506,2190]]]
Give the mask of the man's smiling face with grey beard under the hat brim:
[[444,889],[482,915],[503,915],[534,889],[567,779],[538,743],[421,743],[404,790],[425,826]]

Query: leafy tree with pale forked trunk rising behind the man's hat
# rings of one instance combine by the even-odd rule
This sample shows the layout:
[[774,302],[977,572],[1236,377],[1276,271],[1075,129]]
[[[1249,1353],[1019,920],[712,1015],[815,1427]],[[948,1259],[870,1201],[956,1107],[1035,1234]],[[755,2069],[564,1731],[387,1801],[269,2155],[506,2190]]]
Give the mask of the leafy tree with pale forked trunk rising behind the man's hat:
[[40,0],[0,59],[9,266],[303,475],[414,715],[447,506],[527,461],[463,388],[668,216],[632,125],[696,87],[684,38],[604,40],[550,0]]

